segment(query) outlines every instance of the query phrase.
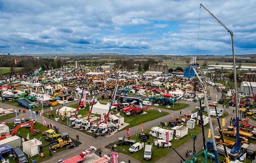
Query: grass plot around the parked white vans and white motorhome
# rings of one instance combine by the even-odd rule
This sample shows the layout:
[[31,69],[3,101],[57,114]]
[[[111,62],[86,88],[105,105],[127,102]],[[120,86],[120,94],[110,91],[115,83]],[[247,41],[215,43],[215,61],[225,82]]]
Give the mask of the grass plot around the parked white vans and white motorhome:
[[[168,123],[168,122],[167,122]],[[184,126],[186,126],[186,122],[184,123]],[[161,127],[160,125],[158,127]],[[205,125],[204,128],[209,128],[209,124]],[[170,127],[167,127],[167,129],[171,129]],[[150,129],[144,131],[144,133],[149,133]],[[132,132],[132,130],[131,130]],[[193,130],[191,129],[188,129],[188,135],[187,136],[184,136],[182,137],[180,140],[175,140],[174,139],[174,136],[173,136],[173,139],[171,141],[171,144],[174,148],[178,148],[180,147],[181,145],[185,144],[186,142],[188,142],[189,140],[193,139],[192,136],[190,136],[190,134],[200,134],[202,132],[202,128],[199,127],[199,126],[195,126],[195,128]],[[136,135],[133,135],[131,136],[131,139],[136,139],[137,142],[139,142],[140,138],[139,138],[139,134],[136,134]],[[150,141],[150,144],[151,143],[154,143],[154,139],[156,139],[156,137],[153,137],[153,136],[150,136],[149,137],[149,141]],[[148,142],[148,141],[147,141]],[[146,142],[146,143],[147,143]],[[115,143],[117,145],[117,142]],[[192,144],[191,144],[192,145]],[[130,146],[129,145],[122,145],[122,146],[119,146],[117,145],[116,149],[123,152],[124,154],[127,154],[137,160],[139,160],[140,162],[147,162],[147,163],[153,163],[153,162],[156,162],[157,160],[165,157],[169,152],[174,152],[171,148],[159,148],[159,149],[156,149],[156,146],[155,144],[153,144],[153,154],[152,154],[152,159],[147,161],[147,160],[144,160],[143,159],[143,153],[144,153],[144,149],[141,149],[140,151],[137,151],[135,153],[130,153],[128,150],[129,150]],[[192,149],[192,147],[191,147]],[[178,155],[177,155],[178,157]]]

